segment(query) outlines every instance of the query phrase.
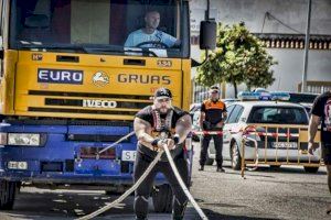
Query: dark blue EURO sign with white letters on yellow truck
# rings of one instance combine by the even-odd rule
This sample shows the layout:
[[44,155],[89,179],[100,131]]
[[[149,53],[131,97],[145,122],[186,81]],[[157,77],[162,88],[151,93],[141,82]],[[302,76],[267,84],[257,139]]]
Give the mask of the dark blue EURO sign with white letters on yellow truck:
[[83,84],[82,70],[38,69],[38,82],[47,84]]

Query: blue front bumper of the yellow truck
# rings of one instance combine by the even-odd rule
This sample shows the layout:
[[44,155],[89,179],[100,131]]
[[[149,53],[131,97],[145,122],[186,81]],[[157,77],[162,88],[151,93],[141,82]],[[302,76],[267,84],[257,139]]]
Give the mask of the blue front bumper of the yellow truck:
[[[13,182],[39,184],[86,184],[86,185],[131,185],[134,158],[124,160],[122,152],[136,151],[137,140],[132,135],[114,147],[106,158],[94,157],[95,151],[84,158],[89,150],[100,150],[113,142],[89,141],[86,136],[113,136],[118,140],[132,131],[131,127],[86,127],[86,125],[6,125],[2,133],[39,133],[43,141],[40,146],[4,145],[0,147],[0,178]],[[75,140],[75,136],[79,136]],[[84,138],[85,136],[85,138]],[[87,148],[87,150],[86,150]],[[86,155],[85,155],[86,156]],[[10,163],[24,163],[12,167]],[[157,184],[166,183],[158,175]]]

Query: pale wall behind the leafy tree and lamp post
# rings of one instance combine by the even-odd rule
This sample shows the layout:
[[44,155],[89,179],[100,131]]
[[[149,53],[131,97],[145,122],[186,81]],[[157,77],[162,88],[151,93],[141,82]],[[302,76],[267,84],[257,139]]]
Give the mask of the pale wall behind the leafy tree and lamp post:
[[[308,0],[211,0],[211,16],[217,22],[233,24],[244,21],[253,33],[305,34]],[[191,1],[191,32],[199,34],[206,0]],[[276,19],[265,16],[269,12]],[[311,34],[331,35],[331,0],[312,0]],[[270,48],[278,61],[274,67],[276,81],[268,89],[296,91],[301,81],[303,50]],[[201,52],[192,46],[192,57],[200,59]],[[308,80],[331,81],[331,51],[309,52]],[[193,75],[195,70],[193,69]],[[245,89],[245,86],[239,87]],[[228,87],[227,97],[233,96]]]

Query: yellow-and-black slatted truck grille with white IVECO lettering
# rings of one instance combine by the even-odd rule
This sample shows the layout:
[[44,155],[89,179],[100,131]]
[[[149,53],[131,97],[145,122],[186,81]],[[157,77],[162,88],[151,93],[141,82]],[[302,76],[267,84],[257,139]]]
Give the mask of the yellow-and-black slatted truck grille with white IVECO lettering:
[[39,98],[45,97],[44,107],[28,107],[28,111],[34,112],[135,116],[140,109],[151,103],[150,96],[140,95],[109,95],[40,90],[29,90],[29,95]]

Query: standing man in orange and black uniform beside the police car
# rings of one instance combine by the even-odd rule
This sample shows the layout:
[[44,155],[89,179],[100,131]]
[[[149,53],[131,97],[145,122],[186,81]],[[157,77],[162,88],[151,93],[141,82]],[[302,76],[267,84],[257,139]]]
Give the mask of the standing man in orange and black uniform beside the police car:
[[[223,131],[224,121],[227,118],[226,106],[220,99],[220,88],[212,86],[210,91],[210,98],[204,100],[201,105],[200,127],[203,131]],[[206,162],[207,148],[210,146],[211,139],[214,139],[216,151],[216,172],[225,172],[223,166],[223,135],[220,134],[204,134],[202,138],[201,153],[200,153],[200,168],[204,169]]]

